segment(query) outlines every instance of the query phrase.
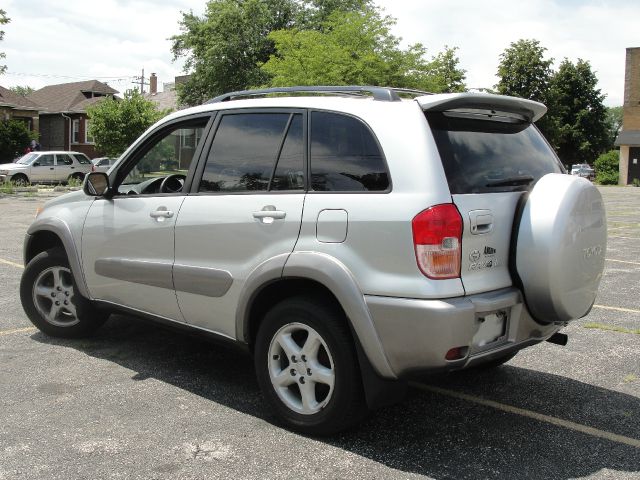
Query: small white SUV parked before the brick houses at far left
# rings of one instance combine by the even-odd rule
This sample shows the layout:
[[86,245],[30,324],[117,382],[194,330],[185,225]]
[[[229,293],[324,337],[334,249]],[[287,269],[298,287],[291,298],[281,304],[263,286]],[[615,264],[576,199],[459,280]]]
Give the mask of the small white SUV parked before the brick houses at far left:
[[48,151],[31,152],[15,163],[0,165],[0,182],[16,185],[30,183],[66,183],[82,181],[91,172],[91,160],[84,153]]

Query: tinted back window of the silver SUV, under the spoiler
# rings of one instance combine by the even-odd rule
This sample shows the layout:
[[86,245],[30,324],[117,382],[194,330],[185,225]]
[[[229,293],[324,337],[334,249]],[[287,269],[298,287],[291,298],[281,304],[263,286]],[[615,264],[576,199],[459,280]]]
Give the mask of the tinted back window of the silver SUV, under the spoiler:
[[501,117],[427,112],[452,194],[527,190],[562,166],[538,129]]

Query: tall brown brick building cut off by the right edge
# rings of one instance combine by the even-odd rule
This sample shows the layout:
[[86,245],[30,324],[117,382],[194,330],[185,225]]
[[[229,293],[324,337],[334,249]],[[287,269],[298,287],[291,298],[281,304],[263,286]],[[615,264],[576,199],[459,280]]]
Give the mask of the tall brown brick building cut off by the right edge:
[[640,180],[640,47],[627,48],[624,75],[622,131],[615,141],[620,147],[620,185]]

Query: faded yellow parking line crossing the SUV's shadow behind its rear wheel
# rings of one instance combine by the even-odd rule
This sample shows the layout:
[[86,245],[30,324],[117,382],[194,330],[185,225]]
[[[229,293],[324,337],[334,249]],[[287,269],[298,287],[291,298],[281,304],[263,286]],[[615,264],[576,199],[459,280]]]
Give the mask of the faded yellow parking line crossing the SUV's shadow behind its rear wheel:
[[570,422],[561,418],[552,417],[550,415],[543,415],[542,413],[532,412],[524,408],[518,408],[511,405],[505,405],[504,403],[496,402],[493,400],[487,400],[486,398],[476,397],[475,395],[468,395],[466,393],[460,393],[446,388],[434,387],[431,385],[423,385],[421,383],[411,382],[412,387],[424,390],[426,392],[437,393],[439,395],[445,395],[447,397],[457,398],[459,400],[465,400],[467,402],[475,403],[485,407],[495,408],[502,412],[512,413],[527,418],[532,418],[540,422],[550,423],[557,427],[567,428],[576,432],[591,435],[592,437],[604,438],[616,443],[622,443],[631,447],[640,448],[640,440],[631,437],[625,437],[624,435],[618,435],[616,433],[607,432],[605,430],[599,430],[593,427],[587,427],[580,423]]

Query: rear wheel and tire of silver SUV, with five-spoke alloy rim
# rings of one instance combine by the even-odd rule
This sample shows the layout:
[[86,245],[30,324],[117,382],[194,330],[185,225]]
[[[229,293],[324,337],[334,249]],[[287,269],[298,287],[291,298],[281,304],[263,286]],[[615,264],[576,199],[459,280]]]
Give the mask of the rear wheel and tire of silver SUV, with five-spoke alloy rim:
[[294,297],[277,304],[260,325],[254,353],[260,388],[292,430],[329,435],[366,415],[354,342],[330,303]]

